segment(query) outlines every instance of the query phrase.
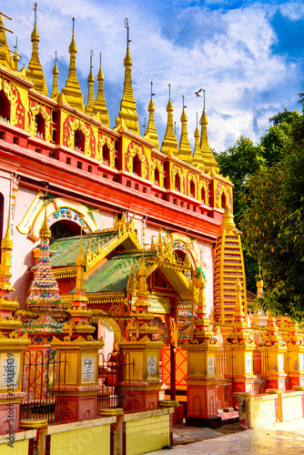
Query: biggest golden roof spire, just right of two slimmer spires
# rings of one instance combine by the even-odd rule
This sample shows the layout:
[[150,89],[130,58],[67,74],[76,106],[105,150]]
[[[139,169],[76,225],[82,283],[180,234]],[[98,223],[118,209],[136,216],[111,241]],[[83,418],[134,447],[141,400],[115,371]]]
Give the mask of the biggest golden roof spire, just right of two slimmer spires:
[[137,105],[133,96],[131,66],[132,58],[129,50],[129,39],[128,39],[128,20],[125,19],[125,27],[127,28],[127,54],[124,60],[125,65],[125,81],[124,81],[124,94],[120,103],[120,112],[118,117],[124,120],[127,129],[134,131],[139,135],[138,116],[137,116]]

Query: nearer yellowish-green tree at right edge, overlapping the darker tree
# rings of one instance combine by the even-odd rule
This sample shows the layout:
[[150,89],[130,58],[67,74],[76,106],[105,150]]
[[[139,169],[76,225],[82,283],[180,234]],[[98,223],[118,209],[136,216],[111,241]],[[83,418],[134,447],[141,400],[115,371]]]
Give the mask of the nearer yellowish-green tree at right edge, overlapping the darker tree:
[[304,319],[304,116],[294,117],[282,160],[248,178],[240,227],[264,279],[264,304]]

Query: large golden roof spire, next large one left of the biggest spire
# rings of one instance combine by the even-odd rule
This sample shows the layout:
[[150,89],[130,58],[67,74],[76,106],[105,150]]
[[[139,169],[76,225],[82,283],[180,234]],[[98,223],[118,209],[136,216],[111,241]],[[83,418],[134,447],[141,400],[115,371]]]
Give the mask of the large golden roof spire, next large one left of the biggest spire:
[[74,22],[75,17],[72,19],[73,29],[72,29],[72,40],[71,44],[68,47],[68,52],[70,53],[70,66],[68,68],[68,76],[66,79],[66,86],[62,89],[62,94],[66,97],[66,103],[72,107],[75,107],[79,111],[84,112],[85,106],[83,101],[83,96],[80,90],[79,82],[76,75],[76,53],[77,46],[74,39]]

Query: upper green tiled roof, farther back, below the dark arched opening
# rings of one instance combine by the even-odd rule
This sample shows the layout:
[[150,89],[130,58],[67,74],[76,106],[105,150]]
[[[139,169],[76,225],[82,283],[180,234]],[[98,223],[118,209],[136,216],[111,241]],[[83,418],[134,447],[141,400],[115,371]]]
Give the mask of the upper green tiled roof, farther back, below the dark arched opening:
[[[83,254],[86,255],[86,251],[89,246],[90,240],[91,240],[90,251],[92,251],[92,253],[96,253],[99,245],[100,248],[103,248],[106,245],[106,243],[108,243],[113,238],[116,238],[117,235],[118,231],[113,230],[84,236],[82,238]],[[51,266],[52,267],[75,266],[76,258],[79,253],[79,246],[80,236],[58,238],[58,240],[56,240],[50,246],[50,249],[54,251],[53,256],[51,256],[50,258]]]

